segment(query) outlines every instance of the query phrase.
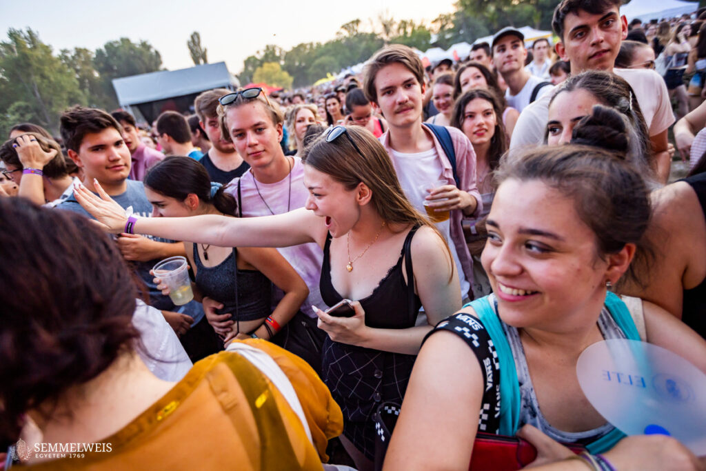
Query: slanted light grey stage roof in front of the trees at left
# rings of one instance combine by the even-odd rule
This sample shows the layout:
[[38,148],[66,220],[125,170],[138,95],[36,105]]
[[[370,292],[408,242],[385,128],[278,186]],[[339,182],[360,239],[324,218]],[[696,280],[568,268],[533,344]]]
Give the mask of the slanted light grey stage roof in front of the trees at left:
[[121,107],[200,93],[211,88],[237,86],[225,62],[113,79]]

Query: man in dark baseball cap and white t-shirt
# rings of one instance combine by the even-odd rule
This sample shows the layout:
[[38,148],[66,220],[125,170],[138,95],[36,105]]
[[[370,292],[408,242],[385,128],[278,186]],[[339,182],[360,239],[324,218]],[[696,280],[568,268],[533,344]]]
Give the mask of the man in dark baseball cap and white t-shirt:
[[508,27],[496,32],[492,48],[496,71],[508,84],[508,90],[505,90],[508,106],[521,113],[527,105],[548,95],[554,89],[551,82],[532,76],[532,73],[525,69],[525,35],[519,30]]

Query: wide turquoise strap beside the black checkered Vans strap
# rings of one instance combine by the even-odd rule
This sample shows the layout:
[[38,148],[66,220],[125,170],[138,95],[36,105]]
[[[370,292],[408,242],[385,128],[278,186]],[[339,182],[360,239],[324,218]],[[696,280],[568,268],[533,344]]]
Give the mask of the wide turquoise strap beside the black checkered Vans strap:
[[[520,423],[520,385],[513,351],[500,323],[500,318],[491,306],[490,297],[482,297],[466,304],[471,306],[488,331],[500,364],[500,429],[501,435],[515,436]],[[465,306],[464,306],[465,307]]]

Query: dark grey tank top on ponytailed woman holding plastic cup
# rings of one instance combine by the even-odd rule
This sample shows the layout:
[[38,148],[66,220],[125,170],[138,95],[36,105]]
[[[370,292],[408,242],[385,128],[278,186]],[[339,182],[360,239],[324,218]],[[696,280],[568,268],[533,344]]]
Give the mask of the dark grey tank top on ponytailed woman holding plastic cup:
[[217,266],[207,267],[193,244],[193,263],[198,290],[223,304],[218,314],[231,313],[234,321],[255,321],[271,314],[272,282],[258,270],[238,270],[235,249]]

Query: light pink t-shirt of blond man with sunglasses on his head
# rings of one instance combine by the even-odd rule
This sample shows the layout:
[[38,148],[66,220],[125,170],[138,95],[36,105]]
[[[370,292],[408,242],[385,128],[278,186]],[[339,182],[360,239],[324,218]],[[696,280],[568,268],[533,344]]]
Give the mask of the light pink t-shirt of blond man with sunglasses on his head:
[[[309,198],[309,191],[304,186],[304,164],[301,163],[299,157],[292,158],[294,159],[294,165],[292,165],[291,186],[289,174],[284,179],[270,184],[262,183],[261,181],[256,183],[251,169],[248,169],[240,177],[243,217],[270,216],[273,213],[283,214],[287,213],[288,210],[304,208],[306,198]],[[226,191],[232,194],[237,201],[237,179],[229,184]],[[302,304],[301,311],[309,317],[316,317],[316,314],[311,311],[311,306],[326,309],[326,304],[321,299],[321,290],[319,290],[318,285],[321,279],[323,250],[316,242],[309,242],[308,244],[299,244],[292,247],[280,247],[277,248],[277,251],[287,259],[292,268],[304,280],[306,286],[309,287],[309,297]]]

